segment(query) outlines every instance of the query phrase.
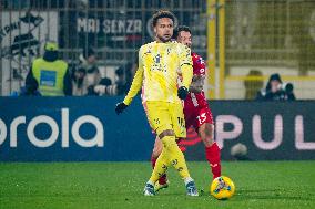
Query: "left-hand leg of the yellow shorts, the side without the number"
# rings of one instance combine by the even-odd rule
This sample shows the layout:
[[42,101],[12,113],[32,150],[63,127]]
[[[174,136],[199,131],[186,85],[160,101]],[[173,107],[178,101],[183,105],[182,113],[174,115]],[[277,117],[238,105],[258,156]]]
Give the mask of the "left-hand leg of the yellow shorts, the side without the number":
[[146,116],[152,129],[160,136],[164,130],[172,130],[172,118],[169,104],[162,102],[146,102]]

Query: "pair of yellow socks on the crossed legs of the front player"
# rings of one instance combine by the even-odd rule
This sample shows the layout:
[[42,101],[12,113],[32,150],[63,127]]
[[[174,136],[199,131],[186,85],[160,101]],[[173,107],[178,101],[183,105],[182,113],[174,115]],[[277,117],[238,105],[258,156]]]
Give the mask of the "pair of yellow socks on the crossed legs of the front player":
[[175,136],[164,136],[162,143],[163,150],[155,163],[150,181],[155,182],[166,171],[170,164],[174,166],[183,179],[189,178],[190,173],[185,157],[176,144]]

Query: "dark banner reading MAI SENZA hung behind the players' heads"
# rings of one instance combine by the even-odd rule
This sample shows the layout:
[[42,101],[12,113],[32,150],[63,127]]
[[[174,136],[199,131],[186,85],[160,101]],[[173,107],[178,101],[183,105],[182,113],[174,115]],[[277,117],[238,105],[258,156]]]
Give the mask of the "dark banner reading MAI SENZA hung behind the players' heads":
[[[174,12],[180,17],[179,12]],[[146,12],[119,12],[119,11],[95,11],[91,13],[70,12],[70,21],[77,20],[75,23],[69,24],[73,28],[79,36],[79,45],[87,40],[99,48],[113,49],[138,49],[143,42],[151,42],[154,38],[152,30],[152,11]],[[175,24],[177,24],[177,19]],[[195,48],[205,48],[205,28],[204,20],[200,20],[199,14],[184,12],[181,24],[193,25],[192,30],[203,35],[197,35],[194,40]],[[68,43],[71,45],[71,43]],[[73,43],[77,44],[77,43]],[[75,45],[77,46],[77,45]]]

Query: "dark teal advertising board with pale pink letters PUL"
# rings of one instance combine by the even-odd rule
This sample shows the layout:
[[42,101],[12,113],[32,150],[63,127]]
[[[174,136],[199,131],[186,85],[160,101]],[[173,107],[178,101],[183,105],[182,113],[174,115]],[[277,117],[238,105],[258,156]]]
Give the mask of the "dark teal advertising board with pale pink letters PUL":
[[[250,160],[315,159],[314,101],[224,101],[210,106],[223,159],[233,159],[231,148],[240,143],[247,147]],[[204,159],[200,138],[192,132],[190,136],[192,140],[184,143],[187,158]]]

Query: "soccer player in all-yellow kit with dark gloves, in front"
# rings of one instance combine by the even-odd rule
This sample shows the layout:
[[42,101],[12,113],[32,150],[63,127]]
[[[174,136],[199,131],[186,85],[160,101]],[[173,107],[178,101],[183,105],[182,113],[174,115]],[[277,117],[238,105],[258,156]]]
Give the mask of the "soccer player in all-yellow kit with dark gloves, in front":
[[[144,187],[144,196],[153,196],[154,184],[174,166],[183,178],[189,196],[197,196],[194,180],[191,178],[184,155],[176,144],[176,138],[185,138],[185,121],[182,101],[189,94],[193,77],[190,48],[171,41],[174,29],[174,14],[159,11],[153,15],[155,41],[144,44],[139,51],[139,69],[132,85],[115,112],[122,113],[142,87],[143,101],[146,103],[148,121],[163,143],[153,173]],[[182,85],[177,86],[179,76]]]

